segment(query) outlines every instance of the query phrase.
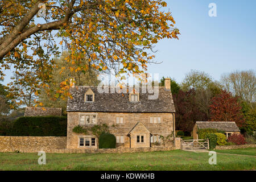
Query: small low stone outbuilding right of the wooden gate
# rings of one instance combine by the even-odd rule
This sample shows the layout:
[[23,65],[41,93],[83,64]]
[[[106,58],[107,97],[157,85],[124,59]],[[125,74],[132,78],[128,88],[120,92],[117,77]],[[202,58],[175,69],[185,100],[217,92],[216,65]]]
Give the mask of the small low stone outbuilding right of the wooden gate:
[[230,121],[197,121],[193,127],[193,139],[198,138],[199,129],[217,129],[225,132],[226,138],[234,133],[240,133],[240,129],[235,122]]

